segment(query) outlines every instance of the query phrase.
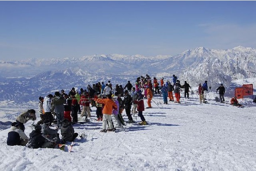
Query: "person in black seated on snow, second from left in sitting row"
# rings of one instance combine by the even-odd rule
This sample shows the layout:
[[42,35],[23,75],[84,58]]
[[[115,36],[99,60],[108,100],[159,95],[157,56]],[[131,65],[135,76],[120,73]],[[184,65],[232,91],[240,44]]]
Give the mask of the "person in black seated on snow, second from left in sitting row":
[[35,130],[33,130],[29,134],[30,138],[28,140],[26,147],[31,148],[31,149],[38,149],[38,148],[42,148],[42,146],[45,142],[48,142],[47,139],[45,139],[42,136],[41,130],[42,130],[41,125],[35,126]]

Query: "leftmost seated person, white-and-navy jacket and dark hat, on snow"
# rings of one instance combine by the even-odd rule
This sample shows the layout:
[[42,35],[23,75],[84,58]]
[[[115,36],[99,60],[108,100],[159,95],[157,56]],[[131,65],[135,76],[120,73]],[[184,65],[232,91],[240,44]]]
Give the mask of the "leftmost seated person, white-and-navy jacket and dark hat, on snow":
[[28,142],[27,135],[20,129],[19,122],[12,122],[10,132],[8,132],[7,145],[22,145],[25,146]]

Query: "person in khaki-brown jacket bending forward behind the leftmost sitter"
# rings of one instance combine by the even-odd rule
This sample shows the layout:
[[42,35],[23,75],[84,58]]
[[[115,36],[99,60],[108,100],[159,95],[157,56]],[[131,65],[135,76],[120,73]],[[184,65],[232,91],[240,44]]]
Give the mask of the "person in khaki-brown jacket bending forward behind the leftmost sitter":
[[16,122],[19,123],[20,129],[24,132],[24,130],[25,130],[24,124],[27,123],[27,121],[29,121],[29,120],[35,121],[36,119],[37,119],[37,117],[35,116],[35,110],[30,109],[30,110],[27,110],[27,112],[23,112],[21,115],[19,115],[16,118]]

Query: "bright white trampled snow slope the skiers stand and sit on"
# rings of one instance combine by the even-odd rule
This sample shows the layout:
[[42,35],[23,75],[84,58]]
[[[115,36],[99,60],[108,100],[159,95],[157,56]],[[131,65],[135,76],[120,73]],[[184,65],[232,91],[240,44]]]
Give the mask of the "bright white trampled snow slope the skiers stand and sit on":
[[[252,83],[255,87],[256,78],[234,83]],[[7,146],[10,123],[22,111],[37,110],[37,102],[21,105],[1,101],[0,170],[256,170],[256,104],[252,97],[239,99],[245,107],[238,108],[227,104],[232,96],[224,96],[227,103],[216,102],[216,96],[215,89],[209,90],[208,103],[200,104],[194,89],[189,99],[181,92],[180,104],[166,105],[162,96],[156,95],[153,108],[143,112],[148,125],[139,125],[140,118],[133,117],[136,123],[107,133],[100,132],[102,122],[96,121],[96,108],[92,107],[91,122],[73,125],[75,132],[84,138],[75,139],[70,153],[60,149]],[[147,100],[144,105],[147,107]],[[125,115],[125,111],[122,114]],[[39,118],[37,112],[36,122]],[[124,119],[127,121],[126,115]],[[25,125],[27,135],[32,131],[31,123]]]

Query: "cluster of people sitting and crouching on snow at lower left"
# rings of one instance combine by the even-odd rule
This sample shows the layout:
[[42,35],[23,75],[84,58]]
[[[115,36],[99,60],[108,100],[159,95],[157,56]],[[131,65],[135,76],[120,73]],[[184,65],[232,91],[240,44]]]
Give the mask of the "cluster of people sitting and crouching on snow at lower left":
[[32,125],[34,130],[29,134],[30,137],[27,137],[24,132],[24,124],[29,120],[36,120],[35,110],[33,109],[23,112],[16,118],[16,122],[12,122],[10,132],[8,132],[7,145],[22,145],[33,149],[55,148],[57,144],[72,142],[78,136],[70,122],[64,119],[62,127],[60,127],[62,139],[60,139],[58,129],[50,128],[50,120],[44,120],[42,126]]

